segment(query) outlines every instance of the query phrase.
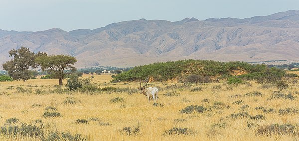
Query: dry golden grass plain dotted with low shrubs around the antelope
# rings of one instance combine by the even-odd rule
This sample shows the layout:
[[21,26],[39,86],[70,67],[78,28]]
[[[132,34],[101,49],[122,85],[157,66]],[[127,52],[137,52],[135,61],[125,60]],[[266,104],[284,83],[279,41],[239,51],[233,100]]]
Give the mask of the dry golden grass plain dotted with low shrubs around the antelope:
[[57,79],[0,82],[0,141],[299,139],[299,83],[278,91],[255,82],[150,82],[160,90],[154,104],[139,93],[139,82],[110,80],[95,75],[92,84],[116,88],[97,92],[66,91]]

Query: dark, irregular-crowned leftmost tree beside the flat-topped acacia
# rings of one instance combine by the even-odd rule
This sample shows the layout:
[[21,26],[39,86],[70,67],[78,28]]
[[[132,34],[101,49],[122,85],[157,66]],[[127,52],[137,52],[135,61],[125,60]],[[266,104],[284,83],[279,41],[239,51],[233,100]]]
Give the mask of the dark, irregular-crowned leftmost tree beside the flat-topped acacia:
[[46,53],[38,52],[35,54],[31,52],[29,48],[21,47],[17,50],[12,49],[9,52],[9,57],[13,56],[13,59],[3,63],[3,69],[8,71],[11,78],[15,80],[23,80],[24,82],[31,78],[30,67],[33,69],[38,65],[35,63],[35,58],[40,55],[46,55]]

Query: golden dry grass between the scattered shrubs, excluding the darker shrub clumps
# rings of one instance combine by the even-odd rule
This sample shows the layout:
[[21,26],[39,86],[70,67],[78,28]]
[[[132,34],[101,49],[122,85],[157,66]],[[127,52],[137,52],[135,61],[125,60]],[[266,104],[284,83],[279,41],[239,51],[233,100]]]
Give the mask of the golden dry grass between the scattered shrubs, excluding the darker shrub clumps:
[[[90,77],[84,75],[83,77]],[[117,88],[138,88],[138,82],[111,84],[110,75],[95,75],[92,83],[99,87],[112,86]],[[64,80],[64,83],[66,81]],[[140,93],[109,93],[98,92],[84,94],[80,92],[66,92],[62,94],[49,93],[56,89],[54,85],[58,80],[28,80],[27,82],[13,81],[0,82],[0,126],[5,126],[6,119],[17,118],[20,123],[34,123],[41,119],[45,126],[46,133],[70,132],[82,134],[91,141],[269,141],[269,140],[296,140],[298,135],[258,135],[256,130],[263,125],[270,124],[292,124],[298,130],[299,114],[280,115],[279,109],[299,109],[299,85],[290,84],[287,90],[282,93],[291,93],[295,100],[271,99],[275,86],[269,89],[261,89],[261,84],[227,85],[224,82],[203,85],[190,85],[183,87],[180,83],[151,83],[150,86],[160,87],[157,103],[163,107],[154,107],[153,101],[148,102],[147,98]],[[166,88],[174,85],[178,88]],[[17,87],[30,89],[30,93],[17,91]],[[191,92],[194,87],[201,87],[202,91]],[[36,94],[36,89],[44,92]],[[176,91],[179,96],[165,96],[169,91]],[[246,93],[258,91],[262,96],[246,96]],[[238,96],[235,96],[238,95]],[[235,96],[235,97],[231,97]],[[111,99],[121,97],[122,103],[112,103]],[[75,100],[74,104],[65,104],[67,98]],[[208,99],[209,102],[203,102]],[[241,104],[233,104],[242,100]],[[32,106],[40,104],[41,106]],[[218,107],[215,106],[218,104]],[[204,113],[182,114],[180,110],[189,105],[202,105],[210,108]],[[247,108],[246,106],[247,105]],[[52,106],[58,109],[62,117],[43,117],[45,108]],[[243,109],[241,108],[243,106]],[[255,110],[256,107],[273,108],[274,112],[264,113],[262,110]],[[262,114],[264,120],[250,118],[232,118],[231,114],[248,112],[255,116]],[[93,118],[94,120],[91,120]],[[77,119],[87,119],[88,124],[76,124]],[[98,119],[98,120],[95,120]],[[249,128],[248,123],[253,126]],[[108,124],[108,125],[105,125]],[[224,125],[219,127],[218,125]],[[215,126],[216,125],[216,126]],[[126,135],[124,127],[139,128],[137,135]],[[191,135],[164,135],[166,130],[188,128],[193,131]],[[0,140],[40,140],[29,137],[7,137],[0,134]]]

